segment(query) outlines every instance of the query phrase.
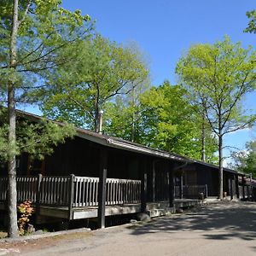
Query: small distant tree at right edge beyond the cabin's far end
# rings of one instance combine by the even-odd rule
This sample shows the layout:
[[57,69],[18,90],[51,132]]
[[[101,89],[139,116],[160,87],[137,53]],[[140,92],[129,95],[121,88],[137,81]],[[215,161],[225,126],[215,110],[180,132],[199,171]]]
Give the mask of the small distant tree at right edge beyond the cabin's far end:
[[256,177],[256,142],[247,143],[246,149],[232,154],[234,163],[230,166],[239,172],[252,174]]

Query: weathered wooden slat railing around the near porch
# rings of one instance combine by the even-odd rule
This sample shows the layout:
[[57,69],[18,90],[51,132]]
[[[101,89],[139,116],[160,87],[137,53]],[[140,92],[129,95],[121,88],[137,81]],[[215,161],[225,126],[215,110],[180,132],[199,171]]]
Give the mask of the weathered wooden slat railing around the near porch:
[[[98,177],[17,177],[17,201],[29,200],[43,206],[96,207],[98,185]],[[106,190],[107,206],[141,201],[140,180],[107,178]],[[7,191],[7,177],[0,177],[0,201],[7,200]]]

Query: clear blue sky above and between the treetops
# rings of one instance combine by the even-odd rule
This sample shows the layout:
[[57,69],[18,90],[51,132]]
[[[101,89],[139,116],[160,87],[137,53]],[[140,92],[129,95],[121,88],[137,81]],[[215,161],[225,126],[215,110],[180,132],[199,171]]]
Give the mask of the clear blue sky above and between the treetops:
[[[244,33],[247,10],[255,0],[63,0],[63,7],[81,9],[96,20],[96,31],[118,43],[135,41],[148,55],[152,83],[177,82],[178,58],[196,43],[214,43],[229,35],[244,47],[255,46],[256,35]],[[247,108],[256,110],[255,97]],[[242,148],[252,139],[251,131],[236,132],[226,143]]]

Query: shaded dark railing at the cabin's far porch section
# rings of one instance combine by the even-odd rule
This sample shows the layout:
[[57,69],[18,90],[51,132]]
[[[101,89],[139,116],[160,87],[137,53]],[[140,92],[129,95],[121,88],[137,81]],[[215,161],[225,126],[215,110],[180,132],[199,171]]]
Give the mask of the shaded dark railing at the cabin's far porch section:
[[[180,195],[181,192],[182,195]],[[208,196],[207,185],[185,185],[182,191],[180,191],[180,186],[174,186],[175,198],[201,199],[201,195],[204,198]]]

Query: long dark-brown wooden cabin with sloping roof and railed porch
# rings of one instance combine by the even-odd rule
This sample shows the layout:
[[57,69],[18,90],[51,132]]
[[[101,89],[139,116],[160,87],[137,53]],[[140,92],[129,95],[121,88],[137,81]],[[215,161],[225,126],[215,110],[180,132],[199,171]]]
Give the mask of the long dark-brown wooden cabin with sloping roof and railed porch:
[[[17,113],[25,119],[41,119]],[[136,212],[160,216],[218,196],[218,166],[93,131],[76,131],[73,139],[56,146],[42,161],[28,154],[17,158],[18,201],[32,201],[38,219],[97,218],[98,226],[104,227],[106,216]],[[244,174],[224,168],[224,192],[230,199],[240,198],[241,193],[245,199],[246,186]],[[7,193],[3,168],[2,212]]]

